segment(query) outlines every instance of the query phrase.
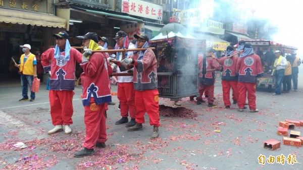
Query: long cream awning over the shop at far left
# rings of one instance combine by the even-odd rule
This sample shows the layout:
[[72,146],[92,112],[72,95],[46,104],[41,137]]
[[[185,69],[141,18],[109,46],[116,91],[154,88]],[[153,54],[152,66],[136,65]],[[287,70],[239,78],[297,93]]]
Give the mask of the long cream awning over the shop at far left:
[[0,8],[0,22],[66,28],[66,20],[55,15]]

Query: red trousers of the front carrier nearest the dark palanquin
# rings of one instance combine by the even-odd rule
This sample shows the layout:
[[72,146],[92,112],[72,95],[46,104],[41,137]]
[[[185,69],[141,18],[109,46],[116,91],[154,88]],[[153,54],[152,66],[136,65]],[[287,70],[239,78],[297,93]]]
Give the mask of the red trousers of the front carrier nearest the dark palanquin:
[[136,122],[143,124],[145,112],[149,117],[151,126],[160,126],[159,92],[156,90],[135,90],[135,103],[137,108]]

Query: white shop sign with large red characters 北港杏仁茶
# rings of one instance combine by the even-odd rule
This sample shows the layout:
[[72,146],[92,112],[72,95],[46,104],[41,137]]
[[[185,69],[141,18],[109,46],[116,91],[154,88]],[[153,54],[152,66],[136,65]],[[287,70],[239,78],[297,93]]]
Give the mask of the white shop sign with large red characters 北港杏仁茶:
[[140,0],[122,0],[121,11],[130,15],[162,21],[163,7]]

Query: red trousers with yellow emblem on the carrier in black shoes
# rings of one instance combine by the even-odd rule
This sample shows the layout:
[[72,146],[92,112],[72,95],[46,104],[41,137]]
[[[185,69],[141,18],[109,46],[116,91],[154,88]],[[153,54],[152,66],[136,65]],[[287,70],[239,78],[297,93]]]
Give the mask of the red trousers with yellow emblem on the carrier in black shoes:
[[85,142],[84,147],[92,149],[96,142],[106,142],[105,103],[95,104],[93,97],[90,105],[84,106]]

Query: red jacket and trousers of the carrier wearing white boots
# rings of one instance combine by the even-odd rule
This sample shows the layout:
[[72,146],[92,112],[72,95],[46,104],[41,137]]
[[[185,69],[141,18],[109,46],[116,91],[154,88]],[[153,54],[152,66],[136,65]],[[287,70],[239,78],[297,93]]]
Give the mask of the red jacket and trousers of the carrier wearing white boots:
[[[76,62],[82,62],[82,54],[75,48],[70,49],[69,61],[65,59],[65,51],[60,58],[54,58],[55,48],[49,48],[41,55],[44,72],[51,71],[49,80],[49,104],[53,125],[73,124],[73,95],[75,88]],[[51,63],[49,63],[51,61]]]

